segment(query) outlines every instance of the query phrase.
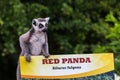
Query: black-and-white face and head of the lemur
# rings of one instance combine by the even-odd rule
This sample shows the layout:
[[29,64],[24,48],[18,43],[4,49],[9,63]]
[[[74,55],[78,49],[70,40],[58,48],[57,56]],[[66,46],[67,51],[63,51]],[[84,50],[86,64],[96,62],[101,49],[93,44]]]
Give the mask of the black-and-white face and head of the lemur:
[[46,32],[48,28],[49,17],[47,18],[37,18],[32,20],[32,27],[35,31]]

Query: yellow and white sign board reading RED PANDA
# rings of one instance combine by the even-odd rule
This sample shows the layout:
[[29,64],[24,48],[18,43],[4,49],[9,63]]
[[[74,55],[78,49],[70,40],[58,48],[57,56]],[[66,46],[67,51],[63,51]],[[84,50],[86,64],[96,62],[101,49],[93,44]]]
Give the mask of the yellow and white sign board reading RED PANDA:
[[112,53],[20,57],[22,78],[65,79],[92,76],[114,70]]

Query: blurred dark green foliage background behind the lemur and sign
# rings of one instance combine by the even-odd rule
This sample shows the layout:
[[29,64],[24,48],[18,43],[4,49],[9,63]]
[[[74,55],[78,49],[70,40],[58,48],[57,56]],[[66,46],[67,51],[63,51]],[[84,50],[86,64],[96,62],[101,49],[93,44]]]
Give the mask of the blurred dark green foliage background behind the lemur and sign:
[[50,17],[50,54],[112,52],[120,75],[120,0],[0,0],[0,80],[16,80],[19,36]]

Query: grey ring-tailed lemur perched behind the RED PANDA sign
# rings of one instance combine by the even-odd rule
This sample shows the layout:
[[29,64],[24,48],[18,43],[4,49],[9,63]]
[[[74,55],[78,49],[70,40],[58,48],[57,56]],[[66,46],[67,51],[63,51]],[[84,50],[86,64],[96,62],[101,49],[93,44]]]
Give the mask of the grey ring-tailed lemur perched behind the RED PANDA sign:
[[[31,55],[43,55],[45,58],[50,56],[48,50],[47,28],[49,17],[37,18],[32,20],[32,28],[19,37],[21,54],[25,56],[26,61],[31,61]],[[18,61],[17,80],[21,80],[20,63]]]

